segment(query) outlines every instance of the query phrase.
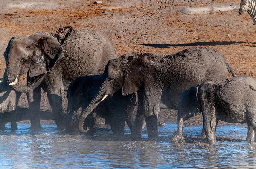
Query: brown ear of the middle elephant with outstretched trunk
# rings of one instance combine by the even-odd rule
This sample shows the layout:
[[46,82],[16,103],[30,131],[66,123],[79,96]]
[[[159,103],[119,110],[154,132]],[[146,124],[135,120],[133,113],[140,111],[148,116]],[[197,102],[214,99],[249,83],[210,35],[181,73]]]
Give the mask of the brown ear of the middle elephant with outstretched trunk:
[[126,96],[137,92],[143,85],[154,83],[157,68],[153,58],[146,54],[131,56],[128,69],[125,71],[122,95]]

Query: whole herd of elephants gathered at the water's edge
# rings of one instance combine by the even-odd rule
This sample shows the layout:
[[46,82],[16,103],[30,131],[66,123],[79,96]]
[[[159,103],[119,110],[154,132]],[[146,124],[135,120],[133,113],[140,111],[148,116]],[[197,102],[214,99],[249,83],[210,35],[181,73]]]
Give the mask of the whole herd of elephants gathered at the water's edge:
[[[216,141],[218,120],[247,122],[246,140],[256,140],[256,79],[235,76],[218,51],[194,47],[171,55],[130,53],[117,58],[105,34],[71,27],[60,30],[66,29],[66,34],[11,38],[4,52],[6,70],[0,81],[2,113],[15,112],[12,110],[21,93],[26,93],[30,128],[41,129],[43,89],[60,130],[78,129],[92,135],[96,113],[105,118],[116,135],[124,134],[126,121],[134,138],[141,137],[145,125],[148,137],[156,138],[160,109],[176,109],[177,135],[182,135],[184,120],[201,112],[209,143]],[[228,73],[233,77],[227,79]],[[27,75],[26,85],[19,81],[23,74]],[[62,107],[65,91],[67,112]],[[15,113],[12,118],[11,129],[16,130]],[[3,115],[1,121],[5,121]]]

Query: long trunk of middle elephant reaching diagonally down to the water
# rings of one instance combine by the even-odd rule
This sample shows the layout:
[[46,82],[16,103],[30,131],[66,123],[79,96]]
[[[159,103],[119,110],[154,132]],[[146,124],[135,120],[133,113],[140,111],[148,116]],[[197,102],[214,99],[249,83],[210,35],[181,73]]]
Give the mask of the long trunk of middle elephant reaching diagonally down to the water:
[[99,105],[99,103],[107,98],[108,95],[105,95],[105,91],[106,91],[105,88],[106,88],[106,83],[103,83],[99,88],[99,92],[96,94],[94,99],[81,113],[79,117],[79,130],[81,132],[86,133],[89,131],[89,127],[86,127],[86,130],[84,130],[84,121],[87,118],[87,116]]

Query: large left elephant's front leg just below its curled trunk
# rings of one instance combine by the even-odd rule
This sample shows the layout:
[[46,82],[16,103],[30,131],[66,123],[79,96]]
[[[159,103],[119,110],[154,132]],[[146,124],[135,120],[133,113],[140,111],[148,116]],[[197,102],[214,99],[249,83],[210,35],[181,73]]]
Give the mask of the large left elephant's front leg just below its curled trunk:
[[30,129],[39,130],[43,127],[40,124],[40,101],[41,101],[41,86],[38,86],[33,91],[27,93],[30,113]]

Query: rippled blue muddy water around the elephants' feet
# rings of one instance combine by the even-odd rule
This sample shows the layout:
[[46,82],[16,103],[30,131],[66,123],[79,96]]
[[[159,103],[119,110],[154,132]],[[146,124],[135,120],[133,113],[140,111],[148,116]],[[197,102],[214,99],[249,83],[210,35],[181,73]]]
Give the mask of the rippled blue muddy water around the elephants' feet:
[[[59,133],[55,125],[43,125],[40,132],[19,124],[0,132],[0,168],[241,168],[256,167],[256,144],[245,142],[247,128],[219,126],[215,145],[174,144],[177,124],[159,127],[160,137],[148,141],[146,129],[140,141],[130,135],[113,138],[111,130],[98,129],[95,136]],[[129,132],[128,129],[125,130]],[[184,134],[199,135],[201,126],[184,128]]]

